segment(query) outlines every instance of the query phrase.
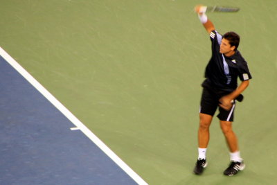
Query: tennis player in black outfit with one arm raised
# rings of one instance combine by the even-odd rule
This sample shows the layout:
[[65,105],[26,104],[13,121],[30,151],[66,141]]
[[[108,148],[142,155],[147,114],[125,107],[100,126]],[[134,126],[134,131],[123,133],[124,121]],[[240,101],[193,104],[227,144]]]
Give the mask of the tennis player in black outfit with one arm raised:
[[[209,141],[209,127],[215,111],[219,107],[217,118],[220,119],[220,127],[229,146],[231,161],[229,167],[224,170],[224,175],[231,176],[245,167],[244,161],[240,157],[238,139],[232,130],[232,123],[236,100],[242,100],[241,94],[249,86],[251,74],[247,62],[238,51],[240,36],[234,32],[220,35],[206,16],[205,6],[196,6],[195,12],[210,35],[212,56],[206,66],[206,79],[202,83],[198,130],[199,155],[194,173],[202,174],[207,166],[206,150]],[[240,85],[237,84],[238,78],[241,80]]]

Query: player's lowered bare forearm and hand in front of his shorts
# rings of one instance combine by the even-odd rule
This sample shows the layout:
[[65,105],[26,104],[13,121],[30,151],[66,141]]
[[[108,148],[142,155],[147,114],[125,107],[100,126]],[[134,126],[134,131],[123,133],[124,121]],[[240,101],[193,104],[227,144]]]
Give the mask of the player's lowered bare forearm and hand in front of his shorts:
[[235,100],[242,92],[247,89],[249,86],[249,80],[244,80],[240,83],[237,89],[235,91],[231,92],[231,94],[228,94],[226,96],[223,96],[220,98],[220,107],[223,109],[229,110],[232,107],[232,100]]

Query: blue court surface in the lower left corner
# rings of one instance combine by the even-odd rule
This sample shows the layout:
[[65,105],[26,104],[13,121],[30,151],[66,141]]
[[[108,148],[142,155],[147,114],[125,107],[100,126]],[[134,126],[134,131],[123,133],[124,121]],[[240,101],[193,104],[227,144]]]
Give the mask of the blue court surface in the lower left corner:
[[0,184],[141,184],[3,57],[0,86]]

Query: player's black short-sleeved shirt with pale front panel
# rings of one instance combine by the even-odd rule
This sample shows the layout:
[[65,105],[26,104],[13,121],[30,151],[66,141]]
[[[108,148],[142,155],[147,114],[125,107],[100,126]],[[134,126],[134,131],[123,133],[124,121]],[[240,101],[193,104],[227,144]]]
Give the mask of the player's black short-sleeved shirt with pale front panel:
[[212,57],[205,71],[203,87],[218,89],[220,91],[234,91],[238,87],[237,79],[241,81],[251,79],[247,62],[242,58],[240,51],[235,51],[231,57],[220,53],[222,35],[216,30],[210,34],[212,42]]

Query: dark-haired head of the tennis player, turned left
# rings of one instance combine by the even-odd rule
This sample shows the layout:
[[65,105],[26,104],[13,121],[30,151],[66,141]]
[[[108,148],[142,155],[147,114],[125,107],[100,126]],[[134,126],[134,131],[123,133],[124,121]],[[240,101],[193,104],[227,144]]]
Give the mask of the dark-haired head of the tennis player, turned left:
[[222,37],[222,42],[220,44],[220,53],[226,56],[233,55],[238,49],[240,44],[240,36],[234,32],[227,32]]

